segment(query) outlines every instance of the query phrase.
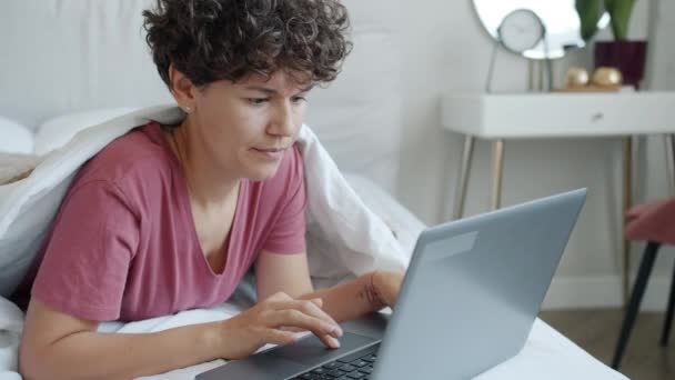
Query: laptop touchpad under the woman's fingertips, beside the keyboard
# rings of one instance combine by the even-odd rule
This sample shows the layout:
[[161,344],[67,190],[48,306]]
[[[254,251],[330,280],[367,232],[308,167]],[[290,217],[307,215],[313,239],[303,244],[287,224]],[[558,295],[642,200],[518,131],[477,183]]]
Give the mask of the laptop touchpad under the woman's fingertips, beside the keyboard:
[[305,366],[316,366],[338,359],[351,351],[361,349],[379,340],[373,338],[344,332],[342,338],[340,338],[340,348],[333,350],[325,347],[325,344],[323,344],[323,342],[314,334],[308,334],[294,344],[280,347],[276,350],[266,352],[266,356],[291,360]]

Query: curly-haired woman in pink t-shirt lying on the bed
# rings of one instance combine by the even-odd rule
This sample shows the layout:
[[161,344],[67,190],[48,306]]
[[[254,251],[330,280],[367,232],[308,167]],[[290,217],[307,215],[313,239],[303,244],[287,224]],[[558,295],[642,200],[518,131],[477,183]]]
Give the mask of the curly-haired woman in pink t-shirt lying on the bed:
[[[132,378],[244,358],[392,306],[402,274],[314,291],[294,147],[312,86],[349,51],[338,0],[159,0],[148,43],[185,118],[117,139],[77,174],[39,254],[20,348],[27,378]],[[38,268],[38,264],[36,268]],[[260,302],[224,321],[97,332],[228,300],[254,267]]]

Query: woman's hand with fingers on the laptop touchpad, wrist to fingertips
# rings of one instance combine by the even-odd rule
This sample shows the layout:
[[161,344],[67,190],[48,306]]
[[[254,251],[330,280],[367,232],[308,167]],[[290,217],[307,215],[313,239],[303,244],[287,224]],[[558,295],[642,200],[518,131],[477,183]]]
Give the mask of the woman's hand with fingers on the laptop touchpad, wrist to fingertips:
[[329,348],[340,347],[342,329],[321,309],[322,304],[321,299],[294,300],[279,292],[220,322],[221,357],[243,359],[268,343],[293,343],[293,331],[312,331]]

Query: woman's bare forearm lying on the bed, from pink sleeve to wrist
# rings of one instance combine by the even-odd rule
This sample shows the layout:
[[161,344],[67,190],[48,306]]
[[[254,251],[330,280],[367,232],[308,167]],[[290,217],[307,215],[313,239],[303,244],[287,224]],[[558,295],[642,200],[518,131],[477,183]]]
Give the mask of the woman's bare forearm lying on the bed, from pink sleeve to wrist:
[[218,322],[139,334],[97,327],[31,300],[19,371],[27,379],[128,379],[220,357]]

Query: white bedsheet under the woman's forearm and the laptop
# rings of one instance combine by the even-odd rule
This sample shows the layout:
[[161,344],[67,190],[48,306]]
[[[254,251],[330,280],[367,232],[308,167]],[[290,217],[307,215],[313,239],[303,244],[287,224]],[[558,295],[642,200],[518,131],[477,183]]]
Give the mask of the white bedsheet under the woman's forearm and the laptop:
[[[179,326],[231,318],[250,303],[243,297],[211,309],[189,310],[131,323],[107,322],[99,328],[105,332],[153,332]],[[19,334],[23,316],[11,302],[0,298],[0,379],[21,379],[16,372]],[[264,349],[264,348],[263,348]],[[452,359],[452,358],[451,358]],[[461,360],[461,358],[457,358]],[[143,377],[145,380],[187,380],[225,363],[214,360],[174,371]],[[476,380],[619,380],[626,379],[607,368],[542,320],[536,320],[524,349],[514,358],[482,373]]]

